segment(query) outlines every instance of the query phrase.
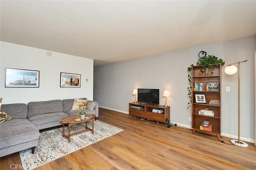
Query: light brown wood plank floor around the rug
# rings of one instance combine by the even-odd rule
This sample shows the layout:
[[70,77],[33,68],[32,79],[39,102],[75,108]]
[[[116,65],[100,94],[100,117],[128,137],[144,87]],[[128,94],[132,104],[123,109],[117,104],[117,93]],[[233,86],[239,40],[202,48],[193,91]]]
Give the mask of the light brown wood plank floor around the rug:
[[[36,168],[36,170],[256,170],[256,147],[226,144],[216,136],[140,120],[100,108],[98,120],[124,131]],[[0,169],[20,164],[18,152],[0,158]],[[13,167],[13,166],[12,166]]]

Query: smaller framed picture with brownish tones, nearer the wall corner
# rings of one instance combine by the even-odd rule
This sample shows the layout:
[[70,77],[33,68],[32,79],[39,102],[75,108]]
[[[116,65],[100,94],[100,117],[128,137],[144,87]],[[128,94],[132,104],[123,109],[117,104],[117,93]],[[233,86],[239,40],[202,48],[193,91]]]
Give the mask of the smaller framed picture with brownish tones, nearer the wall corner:
[[81,74],[60,73],[60,87],[81,87]]

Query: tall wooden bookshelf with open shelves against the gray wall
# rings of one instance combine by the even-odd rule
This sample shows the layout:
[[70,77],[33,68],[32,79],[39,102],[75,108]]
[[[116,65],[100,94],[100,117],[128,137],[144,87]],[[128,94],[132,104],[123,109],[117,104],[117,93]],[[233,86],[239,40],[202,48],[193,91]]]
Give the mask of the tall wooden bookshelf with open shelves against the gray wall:
[[[213,74],[208,76],[205,73],[200,72],[202,66],[193,66],[192,67],[192,129],[193,134],[195,131],[201,133],[207,133],[210,135],[217,135],[218,140],[220,141],[221,133],[221,66],[214,66]],[[218,91],[206,91],[207,82],[219,82]],[[195,83],[202,83],[202,91],[197,91],[194,88]],[[206,103],[197,103],[195,95],[204,94]],[[210,100],[219,100],[220,105],[209,104]],[[214,116],[201,115],[199,111],[201,109],[208,108],[209,110],[214,111]],[[212,131],[205,131],[200,129],[200,125],[204,121],[209,121],[212,126]]]

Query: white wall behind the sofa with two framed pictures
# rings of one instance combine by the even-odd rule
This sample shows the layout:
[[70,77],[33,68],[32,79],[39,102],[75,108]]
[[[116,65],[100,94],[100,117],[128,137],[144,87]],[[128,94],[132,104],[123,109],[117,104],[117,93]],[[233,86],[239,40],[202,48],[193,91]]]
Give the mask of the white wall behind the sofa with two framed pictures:
[[[0,42],[0,96],[3,104],[86,97],[93,100],[93,60]],[[39,88],[5,88],[5,68],[39,70]],[[60,72],[81,74],[80,88],[60,88]],[[88,82],[86,82],[88,78]]]

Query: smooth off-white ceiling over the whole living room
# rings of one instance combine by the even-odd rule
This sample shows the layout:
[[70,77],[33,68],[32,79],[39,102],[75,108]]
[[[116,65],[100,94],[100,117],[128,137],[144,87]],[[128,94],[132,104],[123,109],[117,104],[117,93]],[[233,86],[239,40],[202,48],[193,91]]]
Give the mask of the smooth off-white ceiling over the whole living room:
[[256,33],[255,0],[1,0],[0,9],[1,41],[94,59],[95,66]]

